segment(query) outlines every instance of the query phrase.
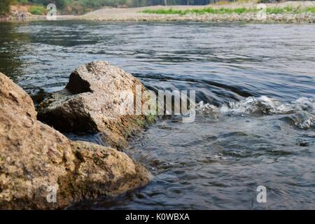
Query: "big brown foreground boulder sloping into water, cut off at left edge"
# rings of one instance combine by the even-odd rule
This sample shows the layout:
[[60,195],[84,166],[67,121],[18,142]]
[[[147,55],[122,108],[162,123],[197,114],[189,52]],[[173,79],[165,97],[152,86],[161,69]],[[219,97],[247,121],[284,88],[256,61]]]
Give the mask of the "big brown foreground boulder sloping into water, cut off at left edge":
[[144,186],[150,177],[125,153],[70,141],[36,120],[28,94],[0,73],[0,209],[63,208]]

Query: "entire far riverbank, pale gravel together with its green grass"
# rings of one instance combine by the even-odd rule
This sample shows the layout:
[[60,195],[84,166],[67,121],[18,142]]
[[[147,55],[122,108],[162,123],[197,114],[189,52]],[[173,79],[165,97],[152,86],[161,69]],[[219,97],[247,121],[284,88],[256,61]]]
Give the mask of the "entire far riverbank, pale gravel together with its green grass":
[[[213,8],[212,13],[194,13],[203,8]],[[58,15],[57,20],[92,20],[106,22],[283,22],[283,23],[315,23],[315,1],[285,1],[267,3],[265,16],[258,15],[257,3],[226,3],[208,6],[149,6],[142,8],[102,8],[85,15]],[[216,13],[224,8],[230,13]],[[290,10],[286,10],[286,8]],[[311,10],[307,10],[307,9]],[[174,10],[168,13],[167,10]],[[236,13],[233,13],[233,9]],[[239,10],[244,12],[239,13]],[[159,11],[162,10],[162,13]],[[176,13],[186,12],[186,13]],[[299,13],[295,13],[299,11]],[[163,13],[165,12],[165,13]],[[174,13],[175,12],[175,13]],[[188,12],[188,13],[187,13]],[[45,20],[44,15],[22,16],[15,13],[6,21]],[[1,18],[0,18],[1,21]]]

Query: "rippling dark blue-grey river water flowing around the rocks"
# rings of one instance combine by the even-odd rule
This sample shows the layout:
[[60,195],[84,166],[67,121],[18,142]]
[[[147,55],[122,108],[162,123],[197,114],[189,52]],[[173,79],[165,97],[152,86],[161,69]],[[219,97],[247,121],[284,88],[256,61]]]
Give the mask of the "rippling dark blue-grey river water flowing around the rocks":
[[[314,25],[68,21],[0,30],[0,71],[32,95],[61,90],[94,60],[151,90],[196,90],[194,123],[159,118],[126,150],[151,170],[151,183],[69,209],[315,209]],[[97,134],[69,136],[102,144]]]

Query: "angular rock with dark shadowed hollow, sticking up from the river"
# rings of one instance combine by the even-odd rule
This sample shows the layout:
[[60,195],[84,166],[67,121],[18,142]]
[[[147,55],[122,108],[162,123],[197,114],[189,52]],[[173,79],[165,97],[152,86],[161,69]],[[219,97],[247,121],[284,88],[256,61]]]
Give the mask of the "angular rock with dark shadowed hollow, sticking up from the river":
[[[62,132],[100,132],[106,146],[122,149],[148,120],[146,116],[135,115],[136,108],[143,104],[144,90],[130,73],[108,62],[91,62],[79,66],[71,73],[64,90],[38,106],[38,119]],[[133,98],[125,97],[127,92]],[[134,114],[122,113],[130,105],[134,106]]]

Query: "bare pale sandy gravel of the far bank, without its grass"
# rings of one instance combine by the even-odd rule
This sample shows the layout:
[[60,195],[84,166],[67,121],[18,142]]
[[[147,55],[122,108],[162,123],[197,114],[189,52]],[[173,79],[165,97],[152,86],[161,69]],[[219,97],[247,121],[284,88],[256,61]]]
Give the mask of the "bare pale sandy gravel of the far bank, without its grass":
[[[292,8],[315,7],[315,1],[286,1],[283,3],[267,3],[267,8]],[[256,8],[255,3],[228,3],[209,6],[149,6],[141,8],[102,8],[85,15],[58,15],[57,20],[93,20],[108,22],[168,22],[168,21],[191,21],[191,22],[315,22],[315,13],[279,13],[267,14],[267,17],[261,19],[257,13],[243,14],[186,14],[186,15],[162,15],[141,13],[146,9],[156,10],[164,9],[193,9],[193,8]],[[27,15],[25,20],[45,20],[45,16]]]

